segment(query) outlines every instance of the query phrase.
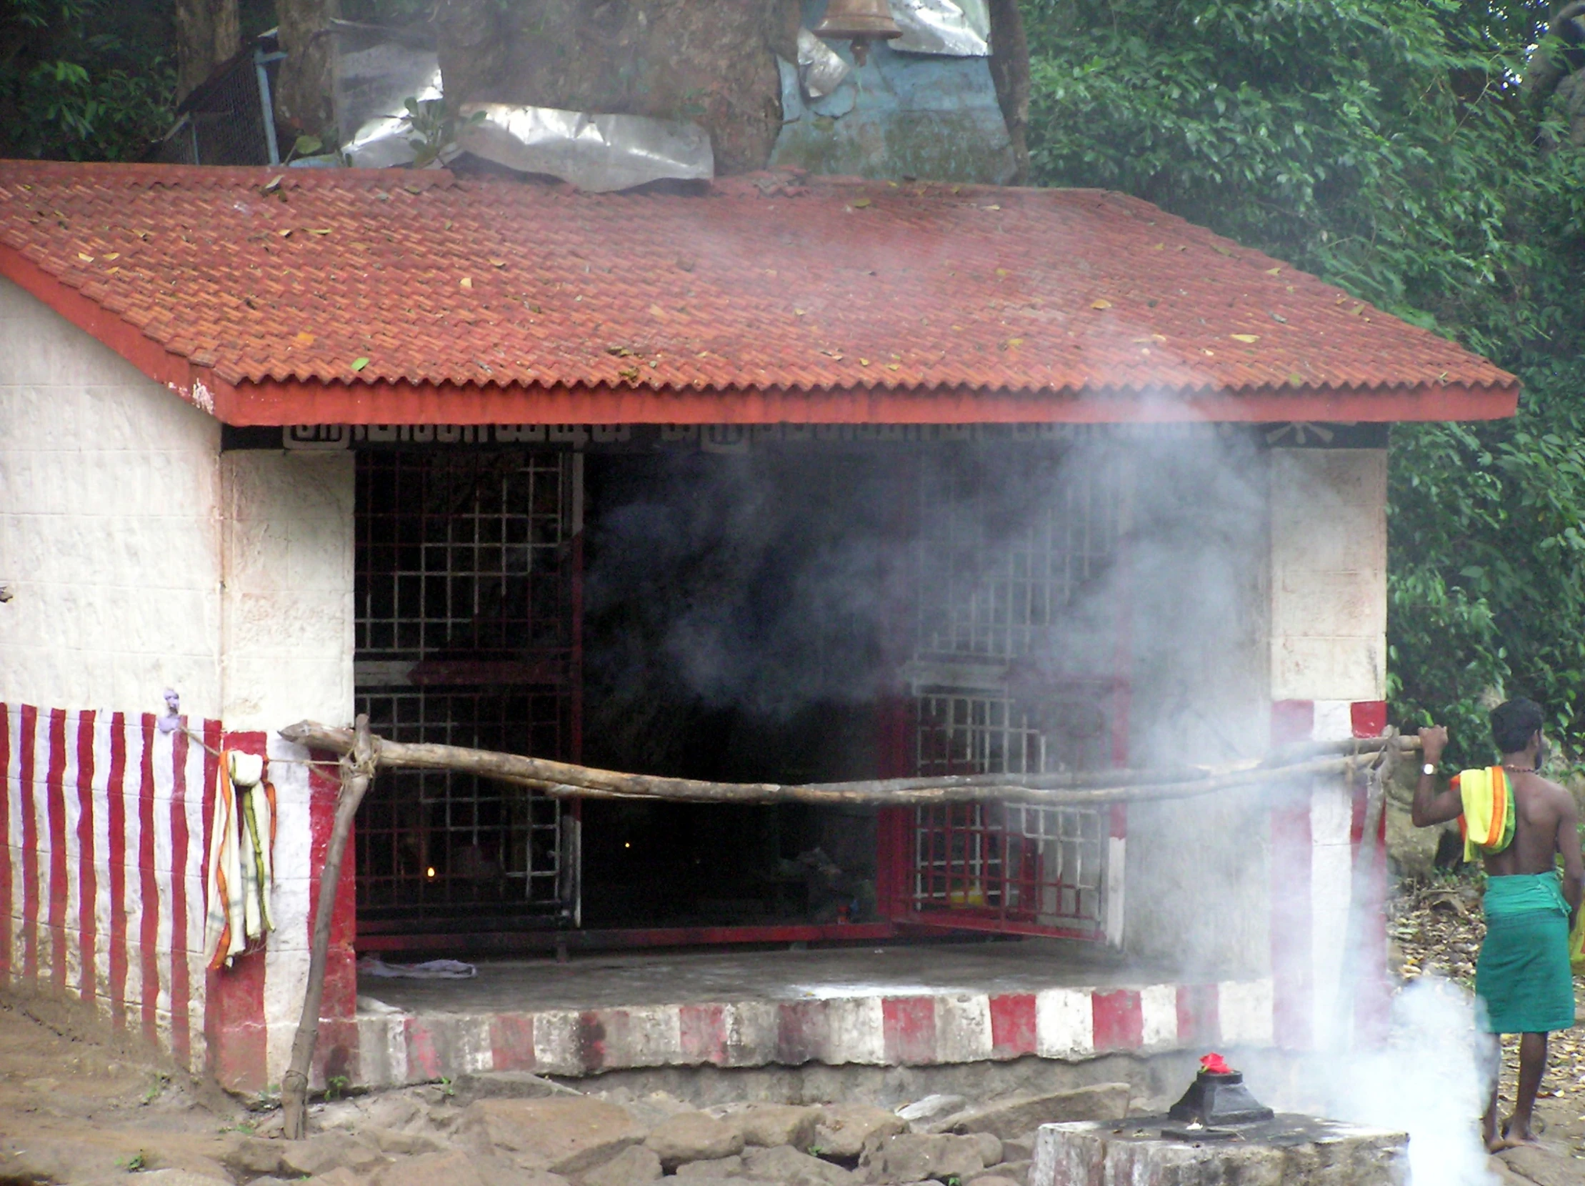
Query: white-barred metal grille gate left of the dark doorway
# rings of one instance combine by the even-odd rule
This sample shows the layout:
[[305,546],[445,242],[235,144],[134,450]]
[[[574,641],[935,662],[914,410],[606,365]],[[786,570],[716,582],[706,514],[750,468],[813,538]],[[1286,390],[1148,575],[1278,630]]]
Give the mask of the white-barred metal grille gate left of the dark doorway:
[[[575,758],[575,460],[358,455],[357,702],[407,742]],[[360,809],[361,931],[501,929],[575,912],[575,844],[537,793],[390,771]]]

